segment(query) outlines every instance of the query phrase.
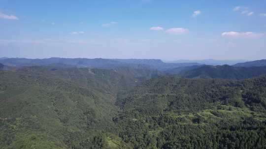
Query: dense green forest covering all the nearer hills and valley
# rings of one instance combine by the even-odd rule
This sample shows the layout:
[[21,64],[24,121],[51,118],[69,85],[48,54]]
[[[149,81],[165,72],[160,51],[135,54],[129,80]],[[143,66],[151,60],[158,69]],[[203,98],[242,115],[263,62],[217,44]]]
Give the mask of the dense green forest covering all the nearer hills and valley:
[[7,68],[0,70],[1,149],[266,149],[263,74]]

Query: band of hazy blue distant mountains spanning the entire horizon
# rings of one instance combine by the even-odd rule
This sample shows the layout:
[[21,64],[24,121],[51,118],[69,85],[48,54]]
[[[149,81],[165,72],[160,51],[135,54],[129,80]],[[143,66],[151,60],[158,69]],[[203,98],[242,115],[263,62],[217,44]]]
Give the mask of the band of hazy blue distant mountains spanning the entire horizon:
[[[228,61],[206,60],[208,63],[226,63]],[[206,62],[202,61],[202,62]],[[199,61],[200,62],[200,61]],[[233,61],[231,61],[233,62]],[[236,61],[234,61],[236,62]],[[181,75],[194,78],[227,78],[243,79],[266,74],[266,60],[237,63],[232,66],[212,66],[200,63],[166,63],[159,59],[88,59],[88,58],[1,58],[0,63],[9,67],[21,66],[57,66],[88,67],[100,69],[116,69],[130,67],[134,69],[158,70],[166,74]]]

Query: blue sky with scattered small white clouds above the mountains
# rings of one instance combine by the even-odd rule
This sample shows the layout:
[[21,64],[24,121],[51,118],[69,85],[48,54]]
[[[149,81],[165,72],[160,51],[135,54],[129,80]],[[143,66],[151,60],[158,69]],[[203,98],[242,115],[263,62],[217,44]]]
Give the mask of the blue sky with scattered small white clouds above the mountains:
[[266,0],[0,0],[0,57],[265,59]]

